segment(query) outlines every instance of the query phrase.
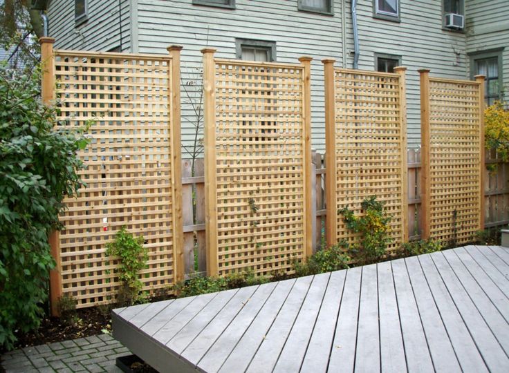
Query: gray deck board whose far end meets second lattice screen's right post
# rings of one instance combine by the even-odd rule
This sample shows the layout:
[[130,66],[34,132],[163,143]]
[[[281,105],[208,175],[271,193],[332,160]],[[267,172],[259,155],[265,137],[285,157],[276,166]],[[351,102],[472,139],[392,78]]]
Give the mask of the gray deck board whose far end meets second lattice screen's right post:
[[292,291],[290,291],[283,307],[281,307],[281,312],[277,314],[272,327],[270,327],[266,337],[263,338],[257,353],[253,356],[247,372],[271,372],[274,369],[281,349],[284,347],[286,338],[290,334],[302,303],[304,303],[304,299],[308,294],[313,278],[313,276],[297,278]]

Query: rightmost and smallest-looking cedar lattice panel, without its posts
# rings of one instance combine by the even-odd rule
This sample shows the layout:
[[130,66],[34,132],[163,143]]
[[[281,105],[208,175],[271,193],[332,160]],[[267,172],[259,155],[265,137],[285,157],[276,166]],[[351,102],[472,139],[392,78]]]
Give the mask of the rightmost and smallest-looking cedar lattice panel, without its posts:
[[479,84],[429,79],[429,232],[472,242],[481,218]]

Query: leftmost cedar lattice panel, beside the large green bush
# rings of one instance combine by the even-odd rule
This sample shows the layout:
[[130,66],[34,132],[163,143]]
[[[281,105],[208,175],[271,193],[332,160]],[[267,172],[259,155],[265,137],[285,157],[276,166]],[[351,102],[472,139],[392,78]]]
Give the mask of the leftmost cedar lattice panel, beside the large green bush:
[[60,217],[62,285],[78,307],[109,303],[119,283],[106,244],[122,227],[145,238],[144,289],[174,283],[169,57],[55,55],[62,126],[93,121],[79,153],[86,187]]

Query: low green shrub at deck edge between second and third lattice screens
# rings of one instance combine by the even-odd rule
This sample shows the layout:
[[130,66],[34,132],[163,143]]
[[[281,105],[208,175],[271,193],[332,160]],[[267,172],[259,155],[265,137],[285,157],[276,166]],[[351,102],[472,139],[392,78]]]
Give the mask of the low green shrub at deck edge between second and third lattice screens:
[[295,262],[295,276],[310,276],[348,268],[351,258],[345,254],[346,245],[335,245],[317,251],[306,262]]

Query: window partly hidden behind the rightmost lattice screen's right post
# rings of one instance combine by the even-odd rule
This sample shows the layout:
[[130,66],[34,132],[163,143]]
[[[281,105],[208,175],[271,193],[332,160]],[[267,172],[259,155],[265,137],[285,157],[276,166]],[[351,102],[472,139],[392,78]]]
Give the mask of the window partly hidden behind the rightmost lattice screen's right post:
[[475,52],[470,54],[470,75],[485,75],[485,104],[492,105],[502,98],[502,50]]

